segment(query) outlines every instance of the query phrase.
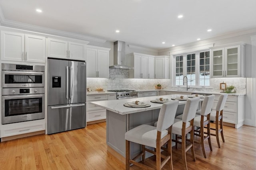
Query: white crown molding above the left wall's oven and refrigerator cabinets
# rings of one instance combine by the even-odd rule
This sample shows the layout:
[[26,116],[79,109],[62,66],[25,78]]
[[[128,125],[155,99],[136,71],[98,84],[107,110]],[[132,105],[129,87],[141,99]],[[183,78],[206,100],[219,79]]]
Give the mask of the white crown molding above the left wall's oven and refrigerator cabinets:
[[83,41],[96,41],[96,42],[100,42],[100,43],[105,43],[107,41],[106,39],[100,39],[100,38],[90,37],[90,36],[86,36],[86,35],[80,35],[80,34],[76,34],[76,33],[60,31],[57,29],[50,29],[50,28],[40,27],[40,26],[31,25],[31,24],[27,24],[27,23],[6,20],[4,18],[4,14],[3,14],[1,8],[0,8],[0,25],[5,26],[5,27],[16,28],[16,29],[25,29],[28,31],[34,31],[34,32],[40,32],[40,33],[45,33],[45,34],[68,37],[68,38],[73,38],[73,39],[80,39]]

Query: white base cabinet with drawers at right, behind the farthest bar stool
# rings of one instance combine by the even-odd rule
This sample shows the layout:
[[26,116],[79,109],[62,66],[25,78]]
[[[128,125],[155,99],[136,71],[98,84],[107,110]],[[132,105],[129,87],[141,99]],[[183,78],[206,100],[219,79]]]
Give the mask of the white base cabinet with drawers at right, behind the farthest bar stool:
[[[212,109],[215,110],[220,95],[215,95]],[[223,109],[223,124],[239,128],[244,125],[244,96],[228,96]]]

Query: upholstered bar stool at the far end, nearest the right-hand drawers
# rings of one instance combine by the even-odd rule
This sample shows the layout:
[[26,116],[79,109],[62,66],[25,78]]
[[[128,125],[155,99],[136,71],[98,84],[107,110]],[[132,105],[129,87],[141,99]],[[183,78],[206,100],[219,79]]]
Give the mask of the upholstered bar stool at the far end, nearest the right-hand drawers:
[[[210,128],[211,130],[215,131],[215,134],[211,133],[211,135],[216,136],[218,147],[220,148],[220,140],[219,140],[219,133],[221,134],[222,141],[224,141],[223,135],[223,109],[228,98],[228,94],[224,93],[221,94],[218,103],[216,106],[216,111],[212,111],[210,114],[210,121],[215,121],[215,129]],[[220,121],[220,128],[218,122]]]

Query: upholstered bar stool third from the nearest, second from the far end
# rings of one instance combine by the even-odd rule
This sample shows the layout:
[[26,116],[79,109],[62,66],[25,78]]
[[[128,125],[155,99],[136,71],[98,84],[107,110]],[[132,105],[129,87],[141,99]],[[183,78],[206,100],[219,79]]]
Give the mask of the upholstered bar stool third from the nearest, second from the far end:
[[[200,142],[194,141],[194,143],[201,144],[204,158],[206,158],[205,149],[204,149],[204,141],[206,139],[208,139],[210,150],[212,150],[212,144],[211,144],[211,138],[210,138],[210,113],[212,111],[214,98],[215,98],[214,95],[205,96],[204,101],[202,103],[202,107],[199,110],[201,116],[196,116],[194,118],[194,126],[200,127],[200,130],[194,129],[194,132],[198,132],[198,133],[194,133],[194,135],[200,136]],[[206,133],[207,135],[206,136],[204,136],[204,126],[205,125],[207,127],[207,133]]]

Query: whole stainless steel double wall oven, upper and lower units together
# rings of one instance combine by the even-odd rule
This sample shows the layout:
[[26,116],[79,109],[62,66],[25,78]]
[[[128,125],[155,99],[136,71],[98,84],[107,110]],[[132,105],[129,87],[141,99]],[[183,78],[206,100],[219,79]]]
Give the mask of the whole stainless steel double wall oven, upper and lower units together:
[[2,124],[44,119],[44,66],[2,63]]

